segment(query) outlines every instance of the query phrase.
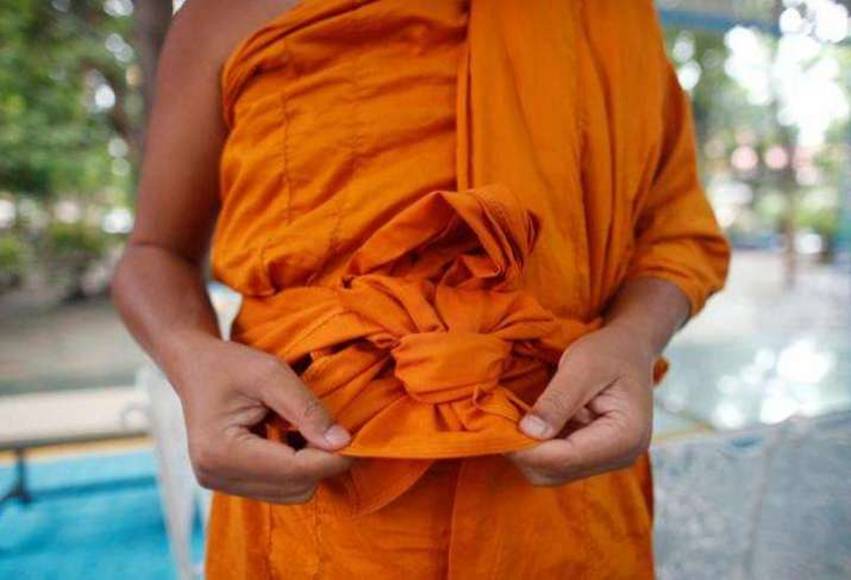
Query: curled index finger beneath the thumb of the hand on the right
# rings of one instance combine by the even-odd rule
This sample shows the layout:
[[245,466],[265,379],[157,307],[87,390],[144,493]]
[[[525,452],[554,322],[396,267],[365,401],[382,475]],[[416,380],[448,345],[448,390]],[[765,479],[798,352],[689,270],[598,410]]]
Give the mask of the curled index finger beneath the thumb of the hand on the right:
[[615,414],[598,417],[565,439],[514,452],[512,461],[552,483],[589,477],[630,465],[645,448],[642,429]]

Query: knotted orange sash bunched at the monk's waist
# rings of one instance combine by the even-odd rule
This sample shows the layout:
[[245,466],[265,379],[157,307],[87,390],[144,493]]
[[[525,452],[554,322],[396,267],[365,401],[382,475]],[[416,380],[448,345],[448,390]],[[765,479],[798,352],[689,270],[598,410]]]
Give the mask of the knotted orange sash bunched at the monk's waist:
[[248,299],[236,330],[308,359],[302,380],[353,434],[342,453],[527,447],[521,395],[540,393],[567,345],[600,324],[556,317],[524,289],[540,227],[501,185],[428,193],[375,230],[336,284]]

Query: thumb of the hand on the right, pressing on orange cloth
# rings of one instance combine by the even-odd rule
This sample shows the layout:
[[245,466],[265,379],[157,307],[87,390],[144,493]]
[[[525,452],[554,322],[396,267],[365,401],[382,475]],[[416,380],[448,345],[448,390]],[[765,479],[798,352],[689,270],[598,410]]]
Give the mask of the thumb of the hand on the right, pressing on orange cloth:
[[562,361],[532,410],[520,421],[520,430],[529,437],[555,437],[596,393],[611,383],[608,376],[601,380],[589,373],[582,361],[572,363],[570,358]]

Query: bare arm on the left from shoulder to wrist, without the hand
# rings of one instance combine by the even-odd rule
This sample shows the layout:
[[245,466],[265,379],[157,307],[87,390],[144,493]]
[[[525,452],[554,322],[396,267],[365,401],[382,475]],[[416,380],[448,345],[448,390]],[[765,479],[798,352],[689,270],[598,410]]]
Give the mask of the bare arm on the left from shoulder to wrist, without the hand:
[[225,127],[214,49],[189,30],[203,18],[195,8],[190,2],[175,16],[159,62],[136,223],[112,282],[128,329],[171,377],[181,374],[188,338],[219,337],[202,265],[218,209],[215,167]]

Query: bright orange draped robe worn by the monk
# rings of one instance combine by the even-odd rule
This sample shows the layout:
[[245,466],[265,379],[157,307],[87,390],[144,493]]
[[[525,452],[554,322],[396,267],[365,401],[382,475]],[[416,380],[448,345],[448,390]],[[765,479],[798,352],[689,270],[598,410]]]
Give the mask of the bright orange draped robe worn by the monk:
[[652,577],[647,454],[557,488],[502,455],[625,280],[696,313],[726,275],[652,3],[303,0],[221,82],[232,337],[358,460],[303,505],[216,492],[208,578]]

